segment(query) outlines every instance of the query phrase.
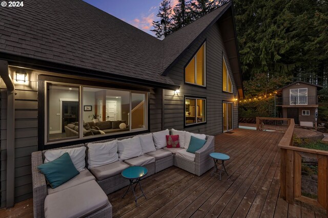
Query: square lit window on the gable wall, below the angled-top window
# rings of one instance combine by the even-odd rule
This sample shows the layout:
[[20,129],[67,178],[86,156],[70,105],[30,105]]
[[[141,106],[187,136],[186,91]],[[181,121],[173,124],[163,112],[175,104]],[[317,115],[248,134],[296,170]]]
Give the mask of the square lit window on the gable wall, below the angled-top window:
[[185,125],[206,122],[206,99],[185,98]]

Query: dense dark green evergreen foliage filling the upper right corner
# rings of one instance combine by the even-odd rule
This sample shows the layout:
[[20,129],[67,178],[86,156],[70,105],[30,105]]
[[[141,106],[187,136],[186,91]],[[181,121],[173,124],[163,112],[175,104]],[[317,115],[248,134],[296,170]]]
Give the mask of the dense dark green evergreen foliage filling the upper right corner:
[[327,85],[326,0],[235,0],[234,9],[246,80],[264,74]]

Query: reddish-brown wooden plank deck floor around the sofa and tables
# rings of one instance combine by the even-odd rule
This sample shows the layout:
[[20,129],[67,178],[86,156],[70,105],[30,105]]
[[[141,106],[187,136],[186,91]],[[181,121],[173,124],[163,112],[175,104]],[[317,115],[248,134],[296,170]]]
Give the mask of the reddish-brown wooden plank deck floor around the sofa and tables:
[[[248,129],[232,132],[215,138],[215,151],[231,157],[226,162],[229,176],[222,174],[219,181],[218,176],[211,177],[212,169],[197,177],[170,167],[141,181],[147,200],[140,198],[137,207],[132,191],[121,199],[126,188],[109,194],[113,217],[326,217],[299,205],[289,205],[278,197],[277,144],[282,133]],[[140,194],[138,188],[136,191]],[[15,208],[10,212],[0,210],[0,217],[30,217],[31,203],[24,213]],[[22,204],[16,205],[17,210],[22,210]]]

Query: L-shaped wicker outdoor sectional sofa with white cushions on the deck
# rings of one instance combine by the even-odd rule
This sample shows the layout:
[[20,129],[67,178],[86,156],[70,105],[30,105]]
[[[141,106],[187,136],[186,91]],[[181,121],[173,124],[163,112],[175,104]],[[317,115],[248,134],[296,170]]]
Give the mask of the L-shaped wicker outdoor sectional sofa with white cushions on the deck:
[[[163,137],[170,134],[179,135],[181,147],[168,148],[166,146],[167,141]],[[79,216],[111,217],[112,206],[108,202],[107,194],[129,185],[129,180],[121,176],[121,172],[129,166],[145,166],[148,173],[144,178],[173,165],[201,176],[202,173],[214,166],[214,162],[209,156],[211,152],[214,152],[214,137],[192,134],[193,136],[203,137],[207,141],[199,150],[195,151],[195,154],[187,154],[188,147],[186,147],[186,144],[189,144],[190,134],[185,131],[175,129],[169,131],[166,129],[155,133],[33,152],[34,217],[51,217],[52,213],[65,216],[65,212],[62,211],[67,210],[69,210],[68,213],[79,213]],[[101,150],[104,148],[105,150]],[[60,154],[63,154],[68,150],[74,150],[76,153],[76,149],[84,149],[84,163],[83,166],[80,166],[82,171],[68,182],[54,189],[51,188],[47,185],[45,176],[37,169],[37,166],[45,162],[47,151],[48,154],[49,152],[59,151]],[[76,168],[78,169],[77,166]],[[88,202],[87,206],[84,204],[83,208],[79,208],[79,206],[74,206],[74,209],[71,208],[73,200],[70,195],[74,195],[74,192],[79,193],[78,198],[80,201],[85,200]],[[97,198],[95,195],[99,195],[99,197]],[[74,202],[74,205],[78,203]],[[59,208],[62,210],[58,212],[59,214],[54,212]]]

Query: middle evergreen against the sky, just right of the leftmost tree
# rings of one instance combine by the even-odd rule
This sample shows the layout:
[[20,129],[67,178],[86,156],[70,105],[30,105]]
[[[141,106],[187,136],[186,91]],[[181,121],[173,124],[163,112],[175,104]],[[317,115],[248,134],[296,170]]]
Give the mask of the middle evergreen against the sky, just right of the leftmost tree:
[[172,31],[177,31],[191,22],[191,4],[185,0],[178,0],[178,4],[173,8],[174,15]]

